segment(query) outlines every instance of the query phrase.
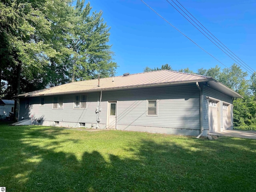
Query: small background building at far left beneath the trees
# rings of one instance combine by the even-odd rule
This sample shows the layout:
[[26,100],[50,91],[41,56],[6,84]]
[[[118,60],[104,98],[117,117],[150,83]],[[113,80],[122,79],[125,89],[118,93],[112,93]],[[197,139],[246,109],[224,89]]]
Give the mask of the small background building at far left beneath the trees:
[[9,114],[14,112],[14,100],[0,99],[0,120],[9,118]]

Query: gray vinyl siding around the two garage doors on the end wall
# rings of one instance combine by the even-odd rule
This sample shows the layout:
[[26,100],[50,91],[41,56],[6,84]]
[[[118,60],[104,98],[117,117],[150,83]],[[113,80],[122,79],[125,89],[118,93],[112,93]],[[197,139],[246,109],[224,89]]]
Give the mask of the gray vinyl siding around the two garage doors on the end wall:
[[[233,104],[233,100],[231,96],[228,96],[222,92],[219,92],[217,90],[211,89],[209,87],[203,88],[203,96],[204,96],[204,102],[203,102],[203,113],[204,113],[204,129],[208,129],[208,102],[206,100],[206,96],[209,96],[211,98],[215,98],[216,100],[220,101],[220,129],[223,128],[223,102],[227,102],[230,104]],[[233,110],[230,110],[231,112],[231,124],[233,126]]]

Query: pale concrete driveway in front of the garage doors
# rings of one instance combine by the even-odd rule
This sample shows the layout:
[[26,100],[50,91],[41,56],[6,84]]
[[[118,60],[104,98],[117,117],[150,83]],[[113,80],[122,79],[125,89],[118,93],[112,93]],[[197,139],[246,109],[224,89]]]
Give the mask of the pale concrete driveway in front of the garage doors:
[[212,132],[209,135],[256,139],[256,131],[224,130],[222,132]]

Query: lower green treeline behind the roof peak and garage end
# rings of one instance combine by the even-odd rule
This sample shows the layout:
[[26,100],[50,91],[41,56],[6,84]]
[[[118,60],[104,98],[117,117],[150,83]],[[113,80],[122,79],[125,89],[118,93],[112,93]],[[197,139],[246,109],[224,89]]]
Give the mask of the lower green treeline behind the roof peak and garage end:
[[[144,68],[144,72],[154,70],[174,70],[168,64],[161,68]],[[219,66],[214,68],[200,68],[193,72],[189,68],[174,70],[178,72],[192,73],[212,77],[228,88],[238,92],[243,98],[235,99],[234,104],[234,126],[238,128],[256,130],[256,73],[244,72],[240,66],[233,64],[230,68],[221,69]]]

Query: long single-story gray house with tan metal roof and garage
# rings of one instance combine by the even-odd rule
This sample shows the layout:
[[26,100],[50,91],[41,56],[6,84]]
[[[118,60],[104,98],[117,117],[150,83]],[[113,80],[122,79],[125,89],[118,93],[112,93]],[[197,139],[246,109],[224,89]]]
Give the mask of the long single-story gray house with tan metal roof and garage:
[[18,120],[34,124],[201,136],[232,129],[232,102],[242,96],[211,77],[159,70],[72,82],[18,98]]

